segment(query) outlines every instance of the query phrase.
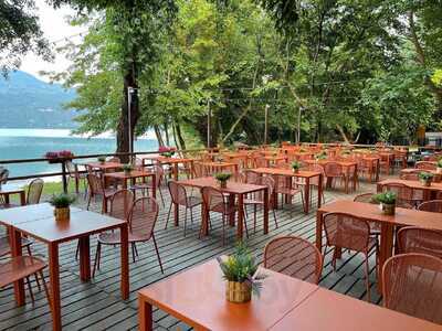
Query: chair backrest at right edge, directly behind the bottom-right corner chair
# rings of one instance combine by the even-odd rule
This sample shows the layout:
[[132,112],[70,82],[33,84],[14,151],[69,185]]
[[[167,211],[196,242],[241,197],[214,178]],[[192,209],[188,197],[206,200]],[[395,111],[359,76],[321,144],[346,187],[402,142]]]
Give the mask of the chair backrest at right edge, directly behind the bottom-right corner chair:
[[402,227],[398,232],[400,253],[422,253],[442,259],[442,232],[418,226]]

